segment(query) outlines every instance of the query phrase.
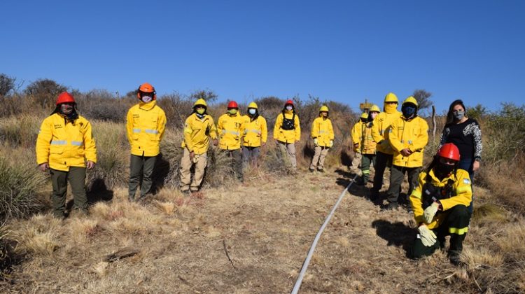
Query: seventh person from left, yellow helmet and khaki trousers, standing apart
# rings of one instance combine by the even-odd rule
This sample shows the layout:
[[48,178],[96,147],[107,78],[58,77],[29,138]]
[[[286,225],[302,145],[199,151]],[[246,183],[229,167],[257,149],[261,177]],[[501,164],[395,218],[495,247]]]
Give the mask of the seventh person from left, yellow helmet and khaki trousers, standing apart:
[[314,172],[316,167],[319,172],[325,171],[324,164],[328,149],[334,146],[334,129],[328,113],[328,106],[321,106],[319,117],[311,124],[311,139],[314,139],[315,154],[314,158],[311,158],[310,172]]

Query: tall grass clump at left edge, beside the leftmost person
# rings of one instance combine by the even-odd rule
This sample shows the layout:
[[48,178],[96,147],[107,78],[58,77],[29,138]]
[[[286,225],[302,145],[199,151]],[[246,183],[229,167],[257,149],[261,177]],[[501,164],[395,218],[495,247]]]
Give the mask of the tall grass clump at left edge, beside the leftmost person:
[[[1,148],[6,151],[5,146]],[[43,208],[39,197],[45,175],[36,169],[34,155],[22,148],[0,155],[0,220],[28,216]]]

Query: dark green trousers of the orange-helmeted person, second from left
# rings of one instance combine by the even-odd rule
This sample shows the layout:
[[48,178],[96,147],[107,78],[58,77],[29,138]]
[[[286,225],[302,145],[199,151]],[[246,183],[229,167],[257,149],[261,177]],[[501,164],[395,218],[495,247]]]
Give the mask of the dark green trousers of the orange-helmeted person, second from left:
[[128,189],[128,197],[130,201],[135,200],[135,193],[137,193],[139,184],[141,186],[141,199],[144,198],[151,190],[151,186],[153,184],[151,175],[153,174],[153,167],[155,167],[156,160],[156,156],[131,155],[130,185]]

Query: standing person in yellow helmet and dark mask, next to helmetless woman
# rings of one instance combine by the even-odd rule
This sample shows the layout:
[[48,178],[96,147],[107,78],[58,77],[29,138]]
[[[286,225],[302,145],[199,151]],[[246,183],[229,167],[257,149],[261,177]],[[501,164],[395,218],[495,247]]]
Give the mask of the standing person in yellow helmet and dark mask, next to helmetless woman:
[[[389,130],[388,139],[393,149],[393,160],[390,169],[390,186],[386,192],[388,195],[386,209],[398,207],[405,172],[409,183],[407,195],[410,195],[417,186],[417,177],[423,167],[423,152],[428,144],[428,124],[426,120],[417,116],[417,106],[414,97],[405,99],[401,106],[402,116],[393,120]],[[409,212],[412,212],[410,206]]]

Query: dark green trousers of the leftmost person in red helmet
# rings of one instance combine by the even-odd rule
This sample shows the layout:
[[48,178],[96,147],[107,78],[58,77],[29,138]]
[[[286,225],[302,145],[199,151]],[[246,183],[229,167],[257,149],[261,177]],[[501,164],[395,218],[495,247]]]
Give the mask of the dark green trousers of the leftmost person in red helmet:
[[73,193],[73,209],[87,211],[87,196],[85,194],[85,167],[69,167],[69,172],[50,169],[53,193],[51,196],[53,214],[58,218],[66,212],[67,182]]

